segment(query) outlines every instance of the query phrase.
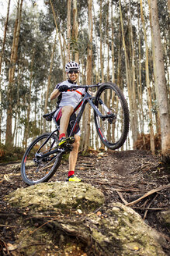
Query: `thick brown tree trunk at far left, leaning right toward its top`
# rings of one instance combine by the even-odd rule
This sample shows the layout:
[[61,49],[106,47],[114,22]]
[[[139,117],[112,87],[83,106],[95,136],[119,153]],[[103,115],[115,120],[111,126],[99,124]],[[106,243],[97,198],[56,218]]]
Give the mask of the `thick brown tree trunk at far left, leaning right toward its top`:
[[7,107],[7,119],[6,119],[6,135],[5,135],[5,144],[9,147],[12,145],[12,86],[14,80],[14,74],[16,69],[16,59],[18,52],[19,44],[19,31],[20,31],[20,22],[21,22],[21,13],[22,13],[23,0],[18,1],[17,12],[16,12],[16,24],[13,33],[12,41],[12,52],[9,64],[9,87],[8,87],[8,107]]

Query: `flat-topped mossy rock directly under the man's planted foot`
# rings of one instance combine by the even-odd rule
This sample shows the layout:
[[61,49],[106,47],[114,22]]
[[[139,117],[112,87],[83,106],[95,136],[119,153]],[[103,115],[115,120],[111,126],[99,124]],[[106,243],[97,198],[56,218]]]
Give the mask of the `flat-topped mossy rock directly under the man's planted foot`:
[[93,211],[104,203],[104,195],[87,183],[39,183],[20,188],[10,194],[9,203],[17,208],[30,208],[33,212],[68,212],[81,209]]

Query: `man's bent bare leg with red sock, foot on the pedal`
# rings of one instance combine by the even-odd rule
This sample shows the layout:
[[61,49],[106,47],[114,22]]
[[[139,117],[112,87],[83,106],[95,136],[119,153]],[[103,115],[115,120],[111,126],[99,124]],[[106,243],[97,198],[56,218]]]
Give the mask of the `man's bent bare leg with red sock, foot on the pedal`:
[[71,114],[73,113],[74,108],[71,106],[64,106],[62,107],[62,116],[61,116],[61,120],[60,120],[60,136],[59,136],[59,140],[62,137],[66,137],[66,131],[68,129],[68,123],[71,117]]

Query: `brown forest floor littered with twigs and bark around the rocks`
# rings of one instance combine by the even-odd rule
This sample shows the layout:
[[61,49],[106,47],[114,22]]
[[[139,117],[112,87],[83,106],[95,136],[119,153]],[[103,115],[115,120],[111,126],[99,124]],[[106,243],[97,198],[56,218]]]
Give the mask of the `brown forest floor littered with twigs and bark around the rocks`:
[[[65,181],[68,173],[68,162],[61,163],[57,172],[50,181]],[[157,229],[166,240],[165,253],[170,251],[170,238],[168,227],[163,226],[158,215],[161,211],[170,208],[169,166],[161,163],[157,156],[149,151],[90,151],[88,155],[78,156],[76,175],[91,183],[92,186],[102,190],[106,197],[105,206],[110,202],[128,204],[147,194],[146,197],[130,205],[141,215],[149,226]],[[14,251],[5,253],[8,245],[15,243],[18,229],[15,229],[16,209],[4,201],[5,195],[19,187],[26,187],[20,176],[19,164],[0,165],[0,255],[24,255],[15,254]],[[165,186],[161,187],[161,186]],[[154,189],[157,189],[154,192]],[[154,193],[153,193],[154,192]],[[102,212],[102,209],[100,209]],[[19,214],[19,209],[17,210]],[[7,224],[8,223],[8,224]],[[24,227],[20,227],[20,229]],[[62,251],[63,248],[57,248]],[[40,255],[92,255],[89,251],[81,251],[75,254],[47,254]]]

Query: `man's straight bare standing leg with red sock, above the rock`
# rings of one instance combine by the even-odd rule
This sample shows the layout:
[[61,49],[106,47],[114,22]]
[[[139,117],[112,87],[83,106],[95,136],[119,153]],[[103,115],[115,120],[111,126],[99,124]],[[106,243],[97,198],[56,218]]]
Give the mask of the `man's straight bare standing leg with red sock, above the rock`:
[[[70,152],[70,155],[69,155],[68,177],[75,174],[75,165],[76,165],[77,158],[78,158],[79,145],[80,145],[80,136],[75,134],[75,142],[73,144],[73,150]],[[79,180],[79,181],[81,181],[81,180]]]

